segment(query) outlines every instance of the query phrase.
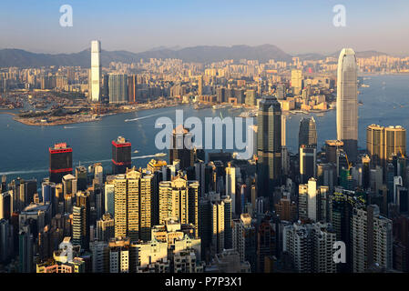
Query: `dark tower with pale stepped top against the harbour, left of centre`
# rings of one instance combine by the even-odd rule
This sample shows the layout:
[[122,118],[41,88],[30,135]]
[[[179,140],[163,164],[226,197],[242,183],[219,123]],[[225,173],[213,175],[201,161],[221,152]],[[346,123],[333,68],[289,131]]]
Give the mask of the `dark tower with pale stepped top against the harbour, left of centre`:
[[169,147],[170,165],[173,164],[174,160],[179,159],[181,169],[193,166],[192,137],[193,135],[189,133],[189,129],[183,127],[183,125],[178,125],[173,129]]

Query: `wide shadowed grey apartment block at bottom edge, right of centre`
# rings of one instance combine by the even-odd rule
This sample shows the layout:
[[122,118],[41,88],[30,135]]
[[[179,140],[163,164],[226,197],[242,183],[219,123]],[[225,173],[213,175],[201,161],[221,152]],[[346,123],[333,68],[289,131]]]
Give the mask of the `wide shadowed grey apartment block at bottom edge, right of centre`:
[[331,224],[284,226],[283,251],[298,273],[336,273],[332,246],[336,234]]

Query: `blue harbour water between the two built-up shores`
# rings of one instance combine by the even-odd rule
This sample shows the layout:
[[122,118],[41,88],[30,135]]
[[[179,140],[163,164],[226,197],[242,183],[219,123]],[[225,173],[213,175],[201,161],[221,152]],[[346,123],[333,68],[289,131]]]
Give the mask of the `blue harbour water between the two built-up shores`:
[[[409,75],[365,75],[363,80],[369,87],[360,88],[359,106],[359,148],[365,147],[366,126],[372,124],[409,127]],[[380,110],[382,108],[382,110]],[[158,117],[168,116],[175,121],[175,111],[183,110],[185,119],[189,116],[205,117],[239,115],[240,110],[205,108],[194,110],[190,105],[139,111],[137,113],[110,115],[91,123],[57,126],[28,126],[15,122],[11,115],[0,115],[0,135],[7,136],[0,144],[0,175],[8,180],[17,176],[36,178],[38,183],[48,173],[48,147],[57,142],[66,141],[73,147],[73,164],[90,166],[101,163],[110,168],[110,142],[118,135],[127,136],[132,143],[133,166],[144,166],[159,152],[155,147],[155,135],[160,128],[155,128]],[[335,111],[325,114],[312,114],[317,124],[318,146],[323,146],[327,139],[336,138]],[[287,115],[287,146],[295,153],[298,145],[300,120],[305,114]],[[127,119],[137,119],[125,122]],[[251,117],[252,118],[252,117]],[[257,119],[257,118],[254,118]],[[254,120],[256,123],[256,120]],[[224,131],[225,133],[225,131]],[[230,133],[227,134],[228,137]],[[167,157],[164,157],[167,159]]]

